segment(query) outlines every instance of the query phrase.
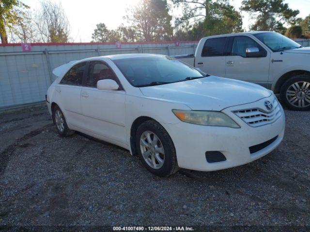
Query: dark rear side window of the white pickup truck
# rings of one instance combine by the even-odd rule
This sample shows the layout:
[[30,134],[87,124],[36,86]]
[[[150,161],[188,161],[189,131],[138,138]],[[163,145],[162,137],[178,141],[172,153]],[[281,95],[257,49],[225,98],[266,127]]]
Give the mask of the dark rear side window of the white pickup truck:
[[202,57],[223,56],[226,37],[207,39],[202,48]]

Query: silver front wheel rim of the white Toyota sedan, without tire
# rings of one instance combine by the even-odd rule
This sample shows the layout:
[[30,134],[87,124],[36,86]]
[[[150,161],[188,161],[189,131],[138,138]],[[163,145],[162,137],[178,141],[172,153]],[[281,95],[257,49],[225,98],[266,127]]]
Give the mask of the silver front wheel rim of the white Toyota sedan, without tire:
[[154,169],[164,165],[165,151],[162,143],[152,131],[144,131],[140,137],[140,150],[145,162]]

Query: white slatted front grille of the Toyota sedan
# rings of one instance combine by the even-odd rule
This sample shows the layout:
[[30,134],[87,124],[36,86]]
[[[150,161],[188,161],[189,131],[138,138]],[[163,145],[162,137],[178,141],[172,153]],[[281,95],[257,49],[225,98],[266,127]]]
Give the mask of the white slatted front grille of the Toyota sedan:
[[251,127],[260,127],[276,121],[281,116],[281,107],[279,102],[274,99],[273,109],[266,111],[261,108],[244,109],[233,111],[238,117],[245,121]]

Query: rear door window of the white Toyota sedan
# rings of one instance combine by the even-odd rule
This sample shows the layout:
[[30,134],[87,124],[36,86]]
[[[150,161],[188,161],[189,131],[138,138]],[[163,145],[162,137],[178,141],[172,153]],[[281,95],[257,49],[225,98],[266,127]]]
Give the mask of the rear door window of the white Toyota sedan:
[[59,84],[81,86],[83,82],[83,73],[86,68],[86,62],[73,66],[62,78]]

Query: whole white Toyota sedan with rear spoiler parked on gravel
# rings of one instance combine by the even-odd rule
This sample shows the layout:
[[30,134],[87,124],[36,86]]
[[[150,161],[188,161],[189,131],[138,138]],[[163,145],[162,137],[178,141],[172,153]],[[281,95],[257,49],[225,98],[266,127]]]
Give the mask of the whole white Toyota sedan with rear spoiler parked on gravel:
[[159,176],[242,165],[284,135],[284,111],[271,91],[168,56],[86,58],[54,73],[46,100],[62,136],[80,131],[124,147]]

